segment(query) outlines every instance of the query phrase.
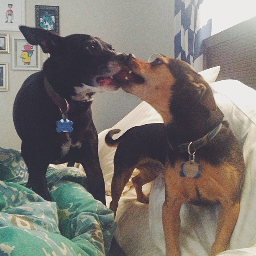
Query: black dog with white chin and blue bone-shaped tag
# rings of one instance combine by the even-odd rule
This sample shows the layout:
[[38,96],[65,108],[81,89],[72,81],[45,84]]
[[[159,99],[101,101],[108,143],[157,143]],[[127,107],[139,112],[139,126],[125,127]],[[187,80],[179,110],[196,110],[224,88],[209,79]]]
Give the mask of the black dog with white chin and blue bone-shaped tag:
[[20,31],[29,44],[40,45],[50,54],[43,70],[23,83],[13,107],[28,166],[27,187],[50,200],[45,178],[48,165],[75,161],[84,167],[89,191],[106,204],[90,105],[98,90],[118,89],[107,65],[126,55],[116,54],[110,44],[89,35],[61,37],[26,26],[20,26]]

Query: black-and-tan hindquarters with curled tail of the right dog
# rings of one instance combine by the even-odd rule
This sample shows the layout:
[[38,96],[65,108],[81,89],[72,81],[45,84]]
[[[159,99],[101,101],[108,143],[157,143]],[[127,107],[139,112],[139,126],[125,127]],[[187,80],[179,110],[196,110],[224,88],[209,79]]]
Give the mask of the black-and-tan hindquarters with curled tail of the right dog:
[[119,129],[110,130],[105,137],[108,146],[117,147],[114,156],[114,174],[111,183],[110,209],[116,213],[118,201],[123,192],[123,184],[130,179],[135,168],[140,173],[132,178],[139,202],[148,203],[142,186],[163,175],[167,154],[166,128],[163,123],[149,123],[135,126],[123,133],[119,138],[113,135]]

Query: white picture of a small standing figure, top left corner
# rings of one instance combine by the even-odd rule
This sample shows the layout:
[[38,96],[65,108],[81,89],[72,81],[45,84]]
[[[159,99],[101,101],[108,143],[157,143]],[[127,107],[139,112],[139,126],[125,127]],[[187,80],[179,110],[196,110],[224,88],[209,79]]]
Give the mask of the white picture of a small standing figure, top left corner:
[[25,25],[25,0],[0,1],[0,31],[19,31]]

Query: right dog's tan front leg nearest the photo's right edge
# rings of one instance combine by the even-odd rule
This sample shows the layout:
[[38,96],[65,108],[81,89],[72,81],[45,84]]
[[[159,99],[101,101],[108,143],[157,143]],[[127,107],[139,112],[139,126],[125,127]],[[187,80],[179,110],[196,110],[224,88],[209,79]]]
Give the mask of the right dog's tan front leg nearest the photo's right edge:
[[239,202],[225,201],[220,202],[220,204],[221,210],[218,217],[217,233],[211,248],[211,255],[217,255],[227,249],[240,210]]

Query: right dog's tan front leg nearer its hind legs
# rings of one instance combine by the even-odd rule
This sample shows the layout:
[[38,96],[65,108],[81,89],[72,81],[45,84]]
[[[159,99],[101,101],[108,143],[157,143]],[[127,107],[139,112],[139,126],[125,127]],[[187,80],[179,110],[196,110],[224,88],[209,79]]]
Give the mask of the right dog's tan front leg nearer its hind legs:
[[162,208],[162,219],[164,227],[165,251],[166,256],[179,256],[179,233],[180,233],[180,217],[179,212],[182,200],[173,195],[168,195]]

